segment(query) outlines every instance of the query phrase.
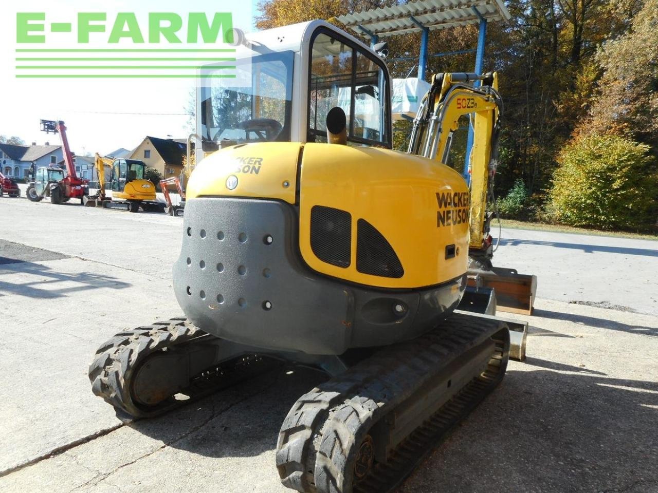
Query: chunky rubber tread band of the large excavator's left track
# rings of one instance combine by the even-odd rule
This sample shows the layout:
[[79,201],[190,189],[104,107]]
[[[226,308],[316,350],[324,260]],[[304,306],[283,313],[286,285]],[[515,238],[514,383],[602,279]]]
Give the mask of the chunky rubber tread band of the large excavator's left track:
[[107,340],[96,351],[89,365],[89,381],[94,394],[114,408],[133,417],[159,415],[188,401],[167,400],[145,408],[132,400],[130,382],[139,365],[153,352],[189,342],[205,335],[185,317],[158,321],[152,325],[124,331]]

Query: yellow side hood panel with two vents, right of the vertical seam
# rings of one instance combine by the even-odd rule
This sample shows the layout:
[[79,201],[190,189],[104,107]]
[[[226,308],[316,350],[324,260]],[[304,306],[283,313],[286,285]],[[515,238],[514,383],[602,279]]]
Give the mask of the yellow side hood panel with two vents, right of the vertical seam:
[[[442,207],[437,194],[444,199]],[[448,197],[458,204],[448,206]],[[351,214],[351,263],[347,268],[322,262],[313,253],[311,208],[315,205]],[[393,247],[403,277],[357,271],[357,220],[361,218]],[[418,288],[455,279],[467,270],[467,184],[455,170],[420,156],[308,143],[301,164],[299,223],[303,259],[313,270],[332,277],[373,287]],[[445,258],[448,245],[455,245],[455,258]]]

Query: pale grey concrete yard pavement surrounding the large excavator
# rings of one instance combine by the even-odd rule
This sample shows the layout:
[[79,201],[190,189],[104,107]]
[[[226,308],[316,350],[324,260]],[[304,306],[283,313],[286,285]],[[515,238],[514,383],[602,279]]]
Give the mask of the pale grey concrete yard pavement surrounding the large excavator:
[[[91,394],[103,340],[180,314],[170,266],[181,224],[0,198],[0,491],[288,491],[276,434],[326,378],[316,371],[272,371],[128,424]],[[658,492],[658,242],[503,239],[497,265],[539,279],[528,360],[511,362],[400,491]]]

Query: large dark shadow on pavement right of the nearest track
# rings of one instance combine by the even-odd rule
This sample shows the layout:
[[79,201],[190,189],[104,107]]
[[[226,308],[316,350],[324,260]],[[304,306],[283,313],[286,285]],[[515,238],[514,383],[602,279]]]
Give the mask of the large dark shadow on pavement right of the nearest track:
[[658,492],[657,382],[528,363],[545,369],[509,369],[399,493]]

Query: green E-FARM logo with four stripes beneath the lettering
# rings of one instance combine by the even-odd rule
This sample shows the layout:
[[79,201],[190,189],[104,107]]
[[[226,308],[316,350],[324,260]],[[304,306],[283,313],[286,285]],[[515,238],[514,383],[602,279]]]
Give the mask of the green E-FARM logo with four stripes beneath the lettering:
[[139,18],[78,12],[74,22],[51,22],[46,12],[17,12],[16,78],[235,78],[231,12]]

